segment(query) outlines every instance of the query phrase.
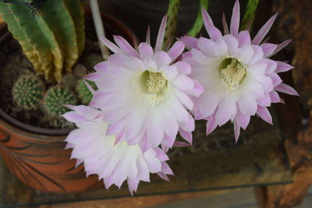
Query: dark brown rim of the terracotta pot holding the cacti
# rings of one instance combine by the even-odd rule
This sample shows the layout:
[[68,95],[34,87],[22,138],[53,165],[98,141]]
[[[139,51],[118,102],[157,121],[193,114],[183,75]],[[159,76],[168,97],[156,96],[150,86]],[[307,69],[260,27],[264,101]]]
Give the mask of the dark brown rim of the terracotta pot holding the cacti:
[[[91,16],[90,10],[86,9],[85,15]],[[120,29],[120,31],[123,31],[125,33],[124,34],[125,38],[128,39],[128,41],[133,44],[136,36],[132,32],[132,30],[129,29],[122,21],[120,21],[114,16],[111,16],[109,14],[102,13],[102,12],[101,12],[101,16],[106,19],[106,22],[108,22],[109,25],[117,26],[116,28]],[[0,36],[0,43],[1,43],[10,34],[10,32],[7,29],[6,23],[2,23],[0,25],[0,34],[1,34]],[[1,108],[0,108],[0,125],[3,125],[6,129],[8,129],[12,133],[28,136],[33,139],[39,139],[39,140],[50,140],[52,137],[52,138],[55,138],[56,140],[63,141],[64,137],[68,135],[73,129],[75,129],[75,128],[58,128],[58,129],[41,128],[41,127],[28,125],[13,118]],[[59,141],[56,141],[56,142],[59,142]]]

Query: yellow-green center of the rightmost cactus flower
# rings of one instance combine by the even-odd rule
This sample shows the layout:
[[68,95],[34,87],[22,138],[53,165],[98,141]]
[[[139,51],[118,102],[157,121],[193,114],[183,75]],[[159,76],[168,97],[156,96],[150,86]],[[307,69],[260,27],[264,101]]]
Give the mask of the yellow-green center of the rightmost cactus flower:
[[219,66],[219,75],[228,94],[233,94],[246,77],[246,67],[235,58],[226,58]]

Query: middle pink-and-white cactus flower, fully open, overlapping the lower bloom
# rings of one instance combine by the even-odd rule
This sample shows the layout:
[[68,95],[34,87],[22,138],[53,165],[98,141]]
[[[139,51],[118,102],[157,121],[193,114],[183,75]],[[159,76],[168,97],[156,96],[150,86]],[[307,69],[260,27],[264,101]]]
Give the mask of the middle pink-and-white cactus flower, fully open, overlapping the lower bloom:
[[182,41],[162,50],[165,26],[166,16],[154,49],[149,30],[146,42],[136,49],[120,36],[114,36],[118,46],[102,38],[115,54],[85,77],[98,87],[90,106],[103,111],[103,120],[109,123],[106,134],[124,134],[127,144],[139,144],[143,152],[160,144],[166,151],[178,132],[192,142],[194,118],[188,110],[193,109],[191,96],[203,90],[188,76],[190,65],[176,61],[184,50]]

